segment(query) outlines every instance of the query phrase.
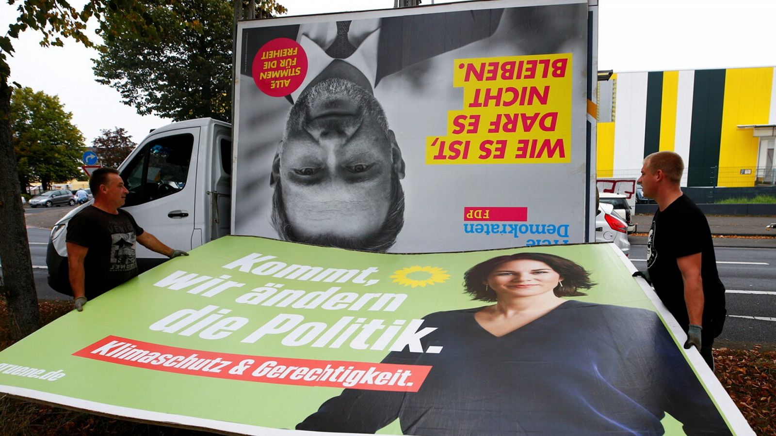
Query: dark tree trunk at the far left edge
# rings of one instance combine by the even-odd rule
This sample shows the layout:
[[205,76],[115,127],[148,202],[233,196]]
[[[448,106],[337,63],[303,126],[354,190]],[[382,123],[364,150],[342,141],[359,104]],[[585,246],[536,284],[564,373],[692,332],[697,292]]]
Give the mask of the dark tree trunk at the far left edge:
[[38,299],[29,255],[16,154],[11,142],[11,89],[0,80],[0,259],[4,285],[2,296],[8,303],[11,337],[21,339],[40,327]]

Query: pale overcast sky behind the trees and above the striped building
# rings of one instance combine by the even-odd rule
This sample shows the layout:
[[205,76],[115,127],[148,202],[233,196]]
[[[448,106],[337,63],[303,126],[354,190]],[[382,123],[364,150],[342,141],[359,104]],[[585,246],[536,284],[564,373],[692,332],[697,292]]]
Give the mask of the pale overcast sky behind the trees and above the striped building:
[[[279,0],[289,16],[359,9],[388,9],[393,0]],[[74,2],[75,3],[75,2]],[[423,4],[430,4],[424,0]],[[435,3],[442,3],[437,1]],[[720,67],[776,66],[774,0],[599,0],[598,69],[661,71]],[[0,26],[17,14],[0,4]],[[123,127],[140,142],[149,130],[168,123],[138,116],[120,95],[92,74],[94,50],[66,42],[43,49],[32,31],[13,40],[11,78],[23,86],[59,95],[87,145],[100,130]]]

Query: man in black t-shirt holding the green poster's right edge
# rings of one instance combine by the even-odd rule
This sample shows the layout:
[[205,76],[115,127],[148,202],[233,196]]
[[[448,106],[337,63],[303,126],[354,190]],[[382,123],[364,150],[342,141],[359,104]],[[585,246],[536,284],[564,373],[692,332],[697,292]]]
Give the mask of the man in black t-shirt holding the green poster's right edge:
[[695,345],[714,369],[712,344],[725,322],[725,286],[708,221],[679,187],[683,171],[673,151],[644,159],[638,182],[658,206],[647,240],[647,268],[657,296],[688,332],[684,348]]

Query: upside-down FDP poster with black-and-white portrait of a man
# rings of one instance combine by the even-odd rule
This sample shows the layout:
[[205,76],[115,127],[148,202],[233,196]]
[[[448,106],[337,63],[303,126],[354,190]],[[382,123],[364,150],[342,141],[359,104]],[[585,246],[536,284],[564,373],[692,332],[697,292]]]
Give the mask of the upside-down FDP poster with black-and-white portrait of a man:
[[587,3],[241,22],[234,234],[397,253],[585,242]]

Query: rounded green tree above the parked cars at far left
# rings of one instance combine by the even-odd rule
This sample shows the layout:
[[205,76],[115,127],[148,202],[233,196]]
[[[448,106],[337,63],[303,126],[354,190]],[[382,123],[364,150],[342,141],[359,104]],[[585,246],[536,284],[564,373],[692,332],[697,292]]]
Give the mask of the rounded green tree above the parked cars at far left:
[[16,151],[19,182],[40,182],[50,189],[51,182],[64,182],[81,173],[79,161],[84,137],[72,124],[73,114],[65,112],[59,97],[14,89],[11,95],[11,130]]

